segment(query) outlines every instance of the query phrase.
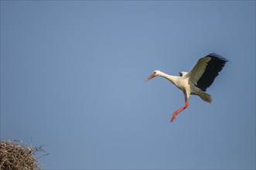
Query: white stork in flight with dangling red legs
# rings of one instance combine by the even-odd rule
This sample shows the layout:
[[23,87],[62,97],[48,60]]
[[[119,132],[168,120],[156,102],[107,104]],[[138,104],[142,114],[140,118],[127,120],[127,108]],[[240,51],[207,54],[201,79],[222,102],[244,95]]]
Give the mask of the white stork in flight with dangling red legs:
[[176,85],[180,90],[183,90],[185,105],[174,111],[171,118],[172,122],[180,112],[189,106],[190,94],[197,95],[201,97],[202,100],[211,103],[212,99],[210,94],[206,93],[206,90],[212,85],[214,79],[218,76],[226,62],[228,62],[228,60],[223,56],[210,53],[199,59],[189,73],[183,71],[179,73],[179,76],[171,76],[159,70],[155,70],[145,81],[147,82],[155,76],[162,76]]

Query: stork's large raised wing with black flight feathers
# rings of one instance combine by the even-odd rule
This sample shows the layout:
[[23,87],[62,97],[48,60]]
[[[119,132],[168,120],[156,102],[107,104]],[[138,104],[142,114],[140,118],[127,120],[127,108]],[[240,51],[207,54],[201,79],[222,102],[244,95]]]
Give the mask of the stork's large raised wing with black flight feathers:
[[206,91],[207,88],[212,85],[214,79],[219,75],[219,72],[223,69],[226,62],[228,62],[228,60],[223,56],[216,53],[210,53],[199,59],[186,76],[189,77],[189,81],[196,87]]

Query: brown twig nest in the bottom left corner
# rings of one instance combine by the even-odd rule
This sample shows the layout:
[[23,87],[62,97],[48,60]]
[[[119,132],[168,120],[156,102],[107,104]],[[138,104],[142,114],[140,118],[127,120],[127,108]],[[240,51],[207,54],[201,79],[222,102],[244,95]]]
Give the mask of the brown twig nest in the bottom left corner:
[[39,148],[29,148],[22,141],[0,141],[0,170],[41,170],[36,159]]

